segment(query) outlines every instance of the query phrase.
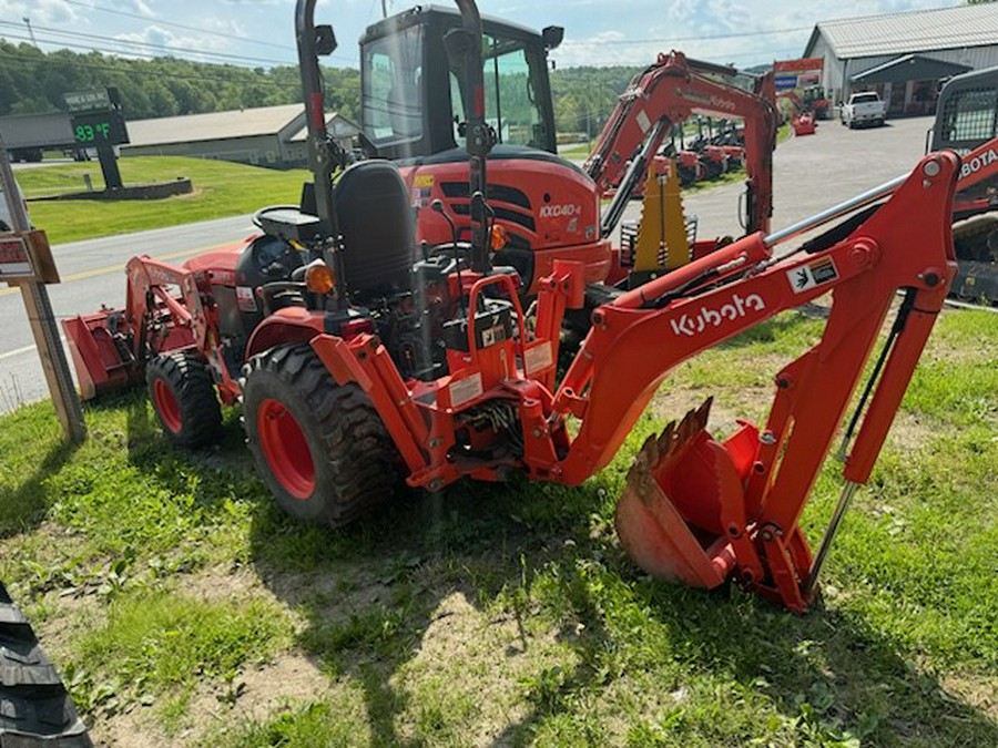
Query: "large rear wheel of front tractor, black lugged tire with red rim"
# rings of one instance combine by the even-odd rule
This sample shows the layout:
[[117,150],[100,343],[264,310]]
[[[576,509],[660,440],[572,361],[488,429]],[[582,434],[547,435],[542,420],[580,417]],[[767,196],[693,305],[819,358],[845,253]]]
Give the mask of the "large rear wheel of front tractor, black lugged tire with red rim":
[[307,345],[251,359],[243,418],[264,482],[296,520],[347,524],[399,484],[398,452],[370,400],[336,385]]

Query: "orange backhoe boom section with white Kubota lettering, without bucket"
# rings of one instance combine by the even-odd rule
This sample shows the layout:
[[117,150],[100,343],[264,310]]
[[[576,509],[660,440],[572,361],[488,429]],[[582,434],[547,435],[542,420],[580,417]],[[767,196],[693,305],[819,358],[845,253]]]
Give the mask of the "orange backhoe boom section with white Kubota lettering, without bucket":
[[[938,171],[927,176],[927,168]],[[556,393],[556,404],[566,403],[566,411],[568,402],[584,393],[582,427],[563,463],[566,480],[581,482],[610,461],[674,367],[780,311],[833,289],[836,300],[849,297],[847,304],[833,306],[828,338],[843,325],[839,319],[847,320],[844,331],[869,317],[882,319],[899,288],[916,287],[920,296],[941,299],[954,271],[949,206],[956,171],[955,155],[927,156],[872,218],[824,252],[794,255],[664,308],[650,308],[709,268],[720,274],[709,278],[715,283],[725,273],[746,270],[768,258],[772,248],[755,234],[598,307],[582,350]],[[828,269],[816,271],[818,266]],[[798,288],[794,285],[798,277],[822,281],[807,280]],[[832,368],[860,366],[854,358],[836,355]]]

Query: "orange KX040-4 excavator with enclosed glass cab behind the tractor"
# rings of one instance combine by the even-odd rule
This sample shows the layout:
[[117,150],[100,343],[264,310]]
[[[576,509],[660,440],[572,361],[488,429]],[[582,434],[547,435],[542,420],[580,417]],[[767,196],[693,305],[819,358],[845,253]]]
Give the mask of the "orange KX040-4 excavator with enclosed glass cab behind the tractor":
[[[462,125],[469,83],[444,43],[462,22],[454,10],[419,6],[378,21],[360,39],[368,154],[399,164],[417,206],[440,201],[441,214],[426,211],[417,219],[418,239],[431,246],[451,242],[451,223],[461,238],[475,223]],[[517,269],[529,295],[556,259],[585,265],[588,281],[627,275],[617,267],[620,256],[609,237],[671,126],[693,113],[745,119],[748,198],[742,224],[748,232],[767,230],[776,129],[772,74],[747,91],[735,84],[732,68],[681,52],[660,55],[630,82],[580,171],[556,147],[547,54],[562,37],[559,27],[537,33],[482,20],[483,106],[495,142],[489,204],[506,234],[495,259]],[[615,197],[601,217],[600,197],[611,186],[618,187]],[[714,245],[705,240],[697,250]]]

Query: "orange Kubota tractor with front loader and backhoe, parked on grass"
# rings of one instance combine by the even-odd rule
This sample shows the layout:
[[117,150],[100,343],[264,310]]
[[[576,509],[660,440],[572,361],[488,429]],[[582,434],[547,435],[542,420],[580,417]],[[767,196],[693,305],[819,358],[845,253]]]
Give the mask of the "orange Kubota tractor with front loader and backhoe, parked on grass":
[[[279,505],[339,524],[388,500],[401,480],[430,491],[511,474],[581,483],[612,459],[675,366],[831,293],[822,339],[775,372],[766,423],[742,422],[720,441],[705,403],[645,443],[617,512],[624,547],[650,573],[701,587],[734,578],[805,609],[954,277],[958,156],[930,154],[910,176],[812,219],[618,289],[592,311],[559,378],[562,317],[583,305],[585,265],[554,260],[525,310],[520,276],[491,262],[495,133],[481,93],[481,27],[471,0],[457,4],[464,24],[447,48],[469,81],[470,244],[451,242],[411,262],[409,194],[390,162],[354,164],[334,184],[317,54],[335,41],[330,27],[313,22],[315,0],[298,0],[315,212],[262,212],[268,238],[238,256],[210,255],[184,269],[133,260],[130,308],[68,328],[81,378],[88,356],[102,376],[101,357],[124,371],[144,367],[167,431],[191,441],[203,437],[191,419],[217,411],[213,383],[225,401],[241,392],[249,449]],[[285,245],[299,256],[275,248]],[[813,560],[801,512],[899,290],[904,303],[857,410],[863,418],[847,429],[843,501]],[[226,372],[235,348],[225,349],[222,331],[237,315],[255,316],[240,328],[248,330],[238,350],[246,365],[234,382]]]

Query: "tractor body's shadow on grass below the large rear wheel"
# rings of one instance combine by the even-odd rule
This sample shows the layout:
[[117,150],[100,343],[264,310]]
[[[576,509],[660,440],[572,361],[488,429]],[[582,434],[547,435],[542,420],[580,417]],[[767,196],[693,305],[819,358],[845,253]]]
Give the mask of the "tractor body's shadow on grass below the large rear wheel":
[[[478,727],[455,726],[448,715],[422,724],[426,705],[413,704],[406,685],[397,685],[397,676],[420,654],[429,627],[451,615],[440,609],[446,600],[459,595],[478,613],[490,615],[500,595],[512,597],[512,612],[503,616],[518,632],[510,646],[521,654],[532,646],[525,631],[532,613],[517,596],[546,564],[563,559],[564,539],[588,542],[588,518],[602,496],[597,488],[558,489],[572,496],[571,506],[552,498],[548,503],[528,499],[525,511],[517,495],[529,490],[526,482],[461,482],[441,494],[414,492],[344,530],[303,526],[269,505],[257,508],[252,557],[259,577],[307,621],[299,644],[313,664],[333,678],[349,677],[363,690],[371,745],[448,742],[467,738],[466,730]],[[561,583],[584,596],[570,564]],[[579,602],[576,607],[585,606]],[[578,638],[574,621],[578,617],[557,633],[571,646]],[[605,641],[594,611],[583,623],[590,641]],[[516,724],[497,725],[497,731],[505,728],[499,742],[526,739],[550,714],[558,693],[595,687],[598,668],[591,662],[598,649],[580,648],[579,664],[560,673],[553,686],[543,683],[543,674],[532,686],[515,685],[529,691],[527,701],[536,708]],[[445,677],[460,678],[467,664],[457,652],[454,656],[455,669]],[[399,732],[400,718],[420,723],[415,737]]]

